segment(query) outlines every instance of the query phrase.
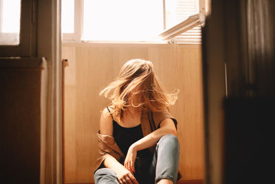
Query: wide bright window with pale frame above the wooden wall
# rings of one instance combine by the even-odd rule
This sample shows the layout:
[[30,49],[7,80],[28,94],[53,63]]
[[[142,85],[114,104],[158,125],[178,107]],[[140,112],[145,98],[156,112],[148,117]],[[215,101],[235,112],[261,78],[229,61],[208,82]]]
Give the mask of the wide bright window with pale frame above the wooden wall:
[[201,18],[177,37],[159,36],[190,16],[201,17],[205,1],[63,0],[63,41],[201,43]]

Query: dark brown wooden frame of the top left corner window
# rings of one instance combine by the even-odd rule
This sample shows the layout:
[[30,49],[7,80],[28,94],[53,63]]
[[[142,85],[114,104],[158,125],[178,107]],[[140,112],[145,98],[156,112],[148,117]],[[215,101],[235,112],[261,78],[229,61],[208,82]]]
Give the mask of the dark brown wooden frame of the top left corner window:
[[[21,37],[21,35],[24,36]],[[35,55],[36,0],[21,0],[19,45],[0,45],[0,52],[1,57],[31,57]]]

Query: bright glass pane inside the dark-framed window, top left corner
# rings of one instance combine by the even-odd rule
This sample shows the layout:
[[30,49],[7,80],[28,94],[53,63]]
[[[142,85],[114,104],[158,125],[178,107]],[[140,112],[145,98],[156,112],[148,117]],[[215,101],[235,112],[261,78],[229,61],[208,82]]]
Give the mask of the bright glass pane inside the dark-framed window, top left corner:
[[0,0],[0,45],[19,45],[21,0]]

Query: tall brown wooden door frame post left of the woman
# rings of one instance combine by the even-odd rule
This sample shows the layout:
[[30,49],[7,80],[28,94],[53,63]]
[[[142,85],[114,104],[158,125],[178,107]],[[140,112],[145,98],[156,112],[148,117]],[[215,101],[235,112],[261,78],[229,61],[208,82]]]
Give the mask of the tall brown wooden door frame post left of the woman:
[[37,57],[47,61],[40,183],[63,183],[61,0],[39,0],[37,20]]

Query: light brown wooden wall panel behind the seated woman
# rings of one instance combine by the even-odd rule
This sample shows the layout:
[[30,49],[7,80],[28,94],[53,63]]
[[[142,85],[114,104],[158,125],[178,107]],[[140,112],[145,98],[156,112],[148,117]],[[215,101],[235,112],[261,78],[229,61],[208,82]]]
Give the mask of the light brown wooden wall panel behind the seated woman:
[[204,177],[201,45],[63,43],[65,68],[65,183],[93,183],[98,156],[102,90],[129,59],[152,61],[168,92],[178,88],[171,114],[178,121],[179,170],[184,180]]

